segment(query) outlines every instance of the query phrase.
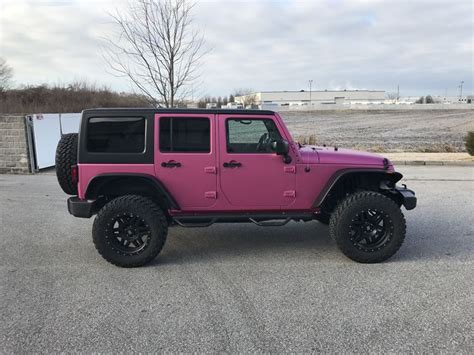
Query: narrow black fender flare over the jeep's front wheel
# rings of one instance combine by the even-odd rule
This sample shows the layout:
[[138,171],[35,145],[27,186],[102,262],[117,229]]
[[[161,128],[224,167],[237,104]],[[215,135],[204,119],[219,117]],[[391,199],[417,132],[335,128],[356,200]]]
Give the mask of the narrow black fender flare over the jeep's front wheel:
[[402,174],[399,172],[395,171],[387,171],[386,169],[366,169],[366,168],[349,168],[349,169],[341,169],[336,171],[331,178],[328,180],[326,185],[323,187],[323,189],[319,192],[318,196],[316,196],[316,199],[314,200],[311,208],[320,208],[321,205],[324,203],[324,200],[328,196],[328,194],[331,192],[332,188],[337,184],[337,182],[349,175],[349,174],[377,174],[380,175],[380,180],[381,181],[389,181],[390,183],[393,184],[395,187],[395,184],[400,181],[403,177]]

